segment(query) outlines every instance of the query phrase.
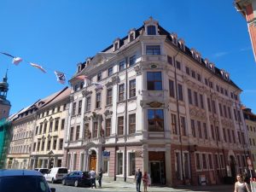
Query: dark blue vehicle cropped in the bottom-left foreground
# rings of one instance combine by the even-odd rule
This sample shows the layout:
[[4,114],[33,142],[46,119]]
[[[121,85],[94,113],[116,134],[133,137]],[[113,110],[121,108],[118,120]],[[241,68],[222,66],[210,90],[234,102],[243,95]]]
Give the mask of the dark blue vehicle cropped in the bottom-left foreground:
[[0,191],[2,192],[55,192],[49,189],[41,172],[34,170],[0,170]]

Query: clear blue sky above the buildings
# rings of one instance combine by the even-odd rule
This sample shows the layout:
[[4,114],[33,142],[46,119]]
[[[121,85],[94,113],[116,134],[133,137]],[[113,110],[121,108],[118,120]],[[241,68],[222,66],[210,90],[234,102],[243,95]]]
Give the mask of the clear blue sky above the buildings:
[[256,113],[256,63],[246,20],[232,0],[1,0],[0,52],[26,61],[15,66],[0,55],[0,78],[9,67],[11,113],[61,90],[54,71],[70,79],[77,64],[123,38],[153,16],[168,32],[177,32],[243,90],[241,102]]

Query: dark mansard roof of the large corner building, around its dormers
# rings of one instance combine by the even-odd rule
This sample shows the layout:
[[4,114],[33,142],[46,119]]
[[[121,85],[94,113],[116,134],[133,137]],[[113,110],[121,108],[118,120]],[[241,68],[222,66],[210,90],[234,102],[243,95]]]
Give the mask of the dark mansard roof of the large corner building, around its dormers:
[[[150,18],[149,20],[152,20],[152,18]],[[163,28],[162,26],[160,26],[158,24],[158,22],[156,22],[156,24],[158,25],[158,32],[160,35],[166,35],[166,42],[169,43],[169,44],[172,44],[172,35],[170,34],[170,32],[167,32],[165,28]],[[138,40],[138,38],[140,38],[140,36],[143,35],[143,32],[145,32],[145,26],[140,26],[139,28],[137,28],[135,30],[136,32],[136,37],[135,39],[133,40],[133,42],[137,42],[136,40]],[[119,51],[122,51],[123,49],[125,49],[127,46],[130,46],[131,44],[133,44],[132,42],[129,43],[128,42],[128,38],[129,38],[129,35],[126,35],[124,38],[120,38],[119,41],[120,41],[120,44],[119,44],[119,49],[114,51],[113,50],[113,44],[109,45],[106,49],[103,49],[100,53],[96,54],[95,56],[91,57],[90,59],[93,61],[95,59],[95,57],[97,57],[97,55],[99,54],[111,54],[111,53],[118,53]],[[191,52],[191,49],[189,49],[189,47],[187,47],[186,45],[185,46],[185,49],[181,49],[179,46],[175,45],[175,44],[172,44],[172,46],[175,48],[175,49],[178,49],[180,52],[183,52],[183,54],[189,56],[193,61],[195,61],[198,65],[200,65],[201,67],[204,67],[207,69],[207,71],[209,73],[213,73],[216,77],[224,80],[226,83],[228,84],[231,84],[232,86],[236,87],[236,89],[238,90],[241,90],[231,79],[224,79],[223,78],[223,75],[220,73],[220,69],[218,67],[215,67],[214,66],[214,70],[211,70],[209,67],[207,67],[207,63],[205,62],[205,59],[201,58],[200,60],[201,61],[196,61],[193,57],[193,54]],[[86,64],[86,61],[84,61],[82,63],[83,65]],[[75,76],[78,76],[80,74],[84,74],[86,73],[87,70],[89,70],[90,67],[84,67],[83,70],[81,70],[80,72],[76,73],[73,78]],[[72,79],[73,79],[72,78]]]

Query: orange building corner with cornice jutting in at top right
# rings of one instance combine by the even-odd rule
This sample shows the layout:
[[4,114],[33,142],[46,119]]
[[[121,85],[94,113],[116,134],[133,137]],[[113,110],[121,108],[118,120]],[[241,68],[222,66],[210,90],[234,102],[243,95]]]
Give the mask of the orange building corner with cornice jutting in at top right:
[[235,0],[234,3],[237,11],[247,20],[253,55],[256,60],[256,0]]

